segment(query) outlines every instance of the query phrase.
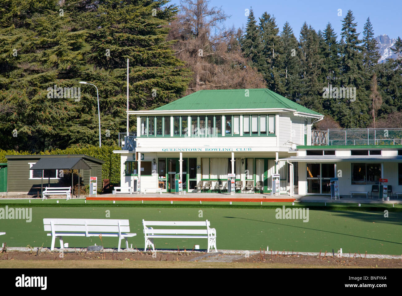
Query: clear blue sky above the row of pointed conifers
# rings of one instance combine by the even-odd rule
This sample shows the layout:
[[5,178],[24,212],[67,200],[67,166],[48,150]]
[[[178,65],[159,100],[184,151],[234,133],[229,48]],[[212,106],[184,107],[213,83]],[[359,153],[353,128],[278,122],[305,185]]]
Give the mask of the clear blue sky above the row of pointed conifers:
[[[178,0],[173,0],[178,3]],[[288,21],[293,28],[293,33],[299,39],[300,28],[304,21],[311,25],[316,31],[324,31],[328,21],[335,29],[338,39],[342,28],[342,20],[350,9],[353,11],[357,32],[363,32],[363,26],[370,17],[374,34],[387,34],[390,38],[402,37],[402,1],[374,1],[374,0],[349,0],[349,1],[318,1],[318,0],[211,0],[209,6],[222,6],[226,14],[232,15],[226,21],[226,26],[244,27],[247,17],[244,15],[246,8],[250,6],[254,10],[254,16],[258,18],[263,12],[275,16],[279,30],[282,31],[283,24]],[[342,17],[338,17],[338,9],[342,9]],[[362,38],[362,34],[359,35]]]

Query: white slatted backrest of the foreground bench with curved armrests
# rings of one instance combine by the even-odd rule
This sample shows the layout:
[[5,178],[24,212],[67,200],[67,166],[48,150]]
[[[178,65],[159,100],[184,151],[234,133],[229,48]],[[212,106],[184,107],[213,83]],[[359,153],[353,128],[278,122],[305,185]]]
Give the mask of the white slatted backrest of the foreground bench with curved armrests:
[[[210,222],[206,221],[145,221],[142,219],[144,226],[144,234],[209,234]],[[170,228],[170,229],[151,229],[151,226],[200,226],[203,229],[184,229]]]

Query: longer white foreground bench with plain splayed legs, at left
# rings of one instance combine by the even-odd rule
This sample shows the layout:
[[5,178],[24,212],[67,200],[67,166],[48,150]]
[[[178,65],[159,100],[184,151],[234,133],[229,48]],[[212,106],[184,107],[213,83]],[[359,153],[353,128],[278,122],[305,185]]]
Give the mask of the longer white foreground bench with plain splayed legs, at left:
[[43,219],[45,231],[51,231],[47,236],[51,236],[51,248],[54,250],[56,237],[60,239],[60,248],[63,249],[63,236],[113,236],[119,238],[120,251],[121,240],[126,241],[128,249],[128,237],[136,236],[136,233],[129,233],[130,226],[128,219]]

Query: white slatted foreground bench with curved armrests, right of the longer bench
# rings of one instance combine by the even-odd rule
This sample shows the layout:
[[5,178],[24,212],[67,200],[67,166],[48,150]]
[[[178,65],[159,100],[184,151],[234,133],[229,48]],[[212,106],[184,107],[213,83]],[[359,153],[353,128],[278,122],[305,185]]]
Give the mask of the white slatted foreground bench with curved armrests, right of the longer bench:
[[[216,249],[216,230],[215,228],[209,228],[210,222],[206,221],[145,221],[142,219],[142,225],[144,226],[145,247],[152,246],[152,250],[155,250],[154,238],[206,238],[208,240],[208,249]],[[154,229],[150,226],[164,226],[164,229]],[[174,226],[170,229],[166,229],[166,226]],[[181,226],[198,226],[203,229],[183,229]]]

